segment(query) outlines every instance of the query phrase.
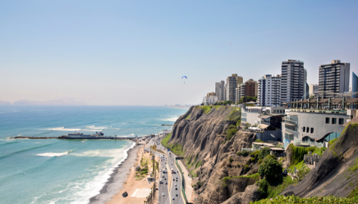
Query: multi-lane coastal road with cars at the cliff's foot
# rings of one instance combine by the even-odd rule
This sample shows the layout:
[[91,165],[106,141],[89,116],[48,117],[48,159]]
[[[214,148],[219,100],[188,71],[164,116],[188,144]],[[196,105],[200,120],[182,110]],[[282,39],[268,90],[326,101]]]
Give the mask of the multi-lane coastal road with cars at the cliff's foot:
[[[146,145],[145,149],[147,151],[150,151],[150,146],[153,144],[156,144],[161,150],[164,151],[164,147],[160,144],[160,139],[159,137],[154,137],[152,138],[148,144]],[[167,151],[165,151],[167,153]],[[159,152],[154,152],[155,156],[163,156],[163,154],[160,154]],[[162,169],[162,172],[160,172],[160,179],[163,180],[163,184],[159,184],[158,187],[158,193],[159,193],[159,203],[158,204],[185,204],[185,201],[183,199],[182,193],[181,193],[181,189],[182,189],[182,176],[180,176],[180,172],[179,169],[176,168],[175,166],[175,157],[173,154],[169,155],[165,155],[165,158],[167,158],[167,162],[165,160],[163,160],[162,162],[159,163],[160,168]],[[167,163],[167,164],[165,164]],[[164,180],[163,177],[163,169],[165,169],[165,167],[167,167],[166,173],[164,174],[166,180]],[[171,173],[171,168],[173,168],[175,173]],[[170,175],[169,175],[170,174]],[[178,178],[176,180],[176,177]],[[174,181],[173,181],[174,178]],[[169,181],[169,179],[171,179]],[[168,182],[168,184],[166,185],[165,182]],[[176,186],[175,186],[176,184]],[[170,185],[170,196],[169,192],[168,192],[168,185]],[[175,190],[175,188],[177,190]],[[163,197],[162,194],[165,194],[165,196]],[[176,194],[178,196],[176,196]],[[172,199],[174,197],[174,200]]]

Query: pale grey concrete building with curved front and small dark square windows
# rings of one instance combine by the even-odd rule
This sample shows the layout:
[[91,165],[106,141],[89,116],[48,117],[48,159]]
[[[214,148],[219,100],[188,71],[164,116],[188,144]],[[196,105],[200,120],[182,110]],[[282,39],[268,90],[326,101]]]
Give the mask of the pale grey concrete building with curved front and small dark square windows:
[[346,120],[344,111],[290,109],[281,123],[283,142],[285,146],[294,141],[295,144],[323,147],[323,142],[341,134]]

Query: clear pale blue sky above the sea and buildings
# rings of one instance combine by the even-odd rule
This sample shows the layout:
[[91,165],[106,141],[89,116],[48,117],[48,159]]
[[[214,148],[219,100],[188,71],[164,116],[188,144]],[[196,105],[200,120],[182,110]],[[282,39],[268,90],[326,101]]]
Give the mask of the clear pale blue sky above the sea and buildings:
[[358,72],[357,10],[358,1],[0,1],[0,100],[198,104],[232,73],[257,81],[288,59],[304,61],[315,84],[332,60]]

